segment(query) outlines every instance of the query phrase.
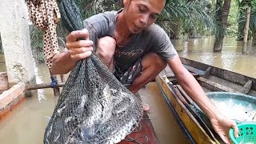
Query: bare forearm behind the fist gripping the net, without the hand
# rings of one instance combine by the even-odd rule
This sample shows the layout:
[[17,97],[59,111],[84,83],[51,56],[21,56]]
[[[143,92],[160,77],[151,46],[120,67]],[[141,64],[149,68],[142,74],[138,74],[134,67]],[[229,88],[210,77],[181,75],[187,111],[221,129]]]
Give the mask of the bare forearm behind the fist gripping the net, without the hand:
[[66,74],[70,70],[74,69],[75,62],[71,60],[68,51],[55,54],[53,58],[53,64],[51,66],[51,72],[53,74]]

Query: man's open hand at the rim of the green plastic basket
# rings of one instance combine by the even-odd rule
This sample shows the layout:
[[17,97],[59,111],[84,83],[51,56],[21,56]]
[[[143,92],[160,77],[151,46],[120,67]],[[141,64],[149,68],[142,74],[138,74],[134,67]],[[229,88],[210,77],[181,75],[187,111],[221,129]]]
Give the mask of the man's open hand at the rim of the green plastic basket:
[[238,126],[234,121],[230,120],[230,118],[226,118],[224,115],[219,114],[217,118],[210,119],[210,122],[216,133],[222,138],[223,142],[230,143],[230,128],[234,129],[234,136],[236,138],[238,137]]

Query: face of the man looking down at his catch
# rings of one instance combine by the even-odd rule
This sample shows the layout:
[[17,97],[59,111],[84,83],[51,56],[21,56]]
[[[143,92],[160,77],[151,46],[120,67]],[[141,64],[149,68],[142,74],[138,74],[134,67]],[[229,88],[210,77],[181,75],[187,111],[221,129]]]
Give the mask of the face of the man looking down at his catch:
[[158,18],[165,0],[124,0],[124,17],[130,33],[138,34]]

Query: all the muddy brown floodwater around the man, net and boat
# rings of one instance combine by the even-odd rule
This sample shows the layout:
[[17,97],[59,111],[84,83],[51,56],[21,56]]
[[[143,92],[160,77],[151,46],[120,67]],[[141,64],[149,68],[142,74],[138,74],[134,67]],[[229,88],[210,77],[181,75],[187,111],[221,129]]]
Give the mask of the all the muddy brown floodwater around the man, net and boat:
[[[196,38],[190,40],[173,40],[180,56],[191,58],[209,65],[233,70],[256,78],[256,48],[248,46],[247,55],[242,55],[242,42],[226,38],[222,53],[213,53],[214,38]],[[37,82],[50,82],[48,69],[44,64],[37,64]],[[5,70],[0,64],[0,69]],[[139,91],[143,102],[150,105],[149,114],[159,141],[167,143],[189,143],[179,129],[167,108],[158,86],[151,82]],[[54,106],[58,101],[53,90],[37,90],[32,98],[26,98],[17,109],[0,122],[1,144],[41,144],[43,134]]]

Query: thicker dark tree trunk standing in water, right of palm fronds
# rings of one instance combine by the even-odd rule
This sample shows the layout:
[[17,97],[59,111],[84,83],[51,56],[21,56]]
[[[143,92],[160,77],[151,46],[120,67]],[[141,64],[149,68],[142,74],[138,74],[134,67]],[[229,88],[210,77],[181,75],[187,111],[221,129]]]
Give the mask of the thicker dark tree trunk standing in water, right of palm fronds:
[[225,0],[223,7],[222,7],[222,16],[221,16],[222,21],[219,24],[219,26],[220,26],[219,28],[222,31],[219,32],[219,34],[217,36],[215,36],[216,39],[214,42],[214,52],[222,51],[222,44],[223,44],[223,39],[224,39],[225,31],[226,31],[227,18],[230,13],[230,2],[231,2],[231,0]]

